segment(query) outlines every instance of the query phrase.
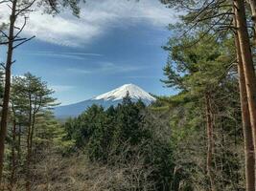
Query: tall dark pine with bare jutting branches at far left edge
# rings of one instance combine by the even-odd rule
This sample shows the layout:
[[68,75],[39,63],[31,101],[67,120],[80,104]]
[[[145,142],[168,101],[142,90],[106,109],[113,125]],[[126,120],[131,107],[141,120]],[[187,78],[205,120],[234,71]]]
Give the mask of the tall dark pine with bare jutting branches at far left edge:
[[[7,0],[1,1],[1,4],[6,4],[11,9],[9,25],[7,27],[1,27],[1,41],[0,45],[7,45],[7,58],[6,62],[3,63],[5,70],[5,86],[3,96],[3,109],[1,117],[1,129],[0,129],[0,184],[2,184],[2,173],[3,173],[3,162],[4,162],[4,150],[5,150],[5,139],[8,132],[8,117],[9,117],[9,102],[11,94],[11,78],[12,78],[12,64],[14,50],[24,43],[30,41],[32,37],[20,37],[26,27],[27,20],[30,12],[34,6],[40,6],[44,8],[47,13],[58,13],[60,8],[67,7],[73,11],[74,15],[79,15],[79,1],[74,0]],[[24,22],[21,27],[17,27],[17,21],[23,18]],[[1,24],[2,26],[2,24]],[[2,39],[3,37],[3,39]]]

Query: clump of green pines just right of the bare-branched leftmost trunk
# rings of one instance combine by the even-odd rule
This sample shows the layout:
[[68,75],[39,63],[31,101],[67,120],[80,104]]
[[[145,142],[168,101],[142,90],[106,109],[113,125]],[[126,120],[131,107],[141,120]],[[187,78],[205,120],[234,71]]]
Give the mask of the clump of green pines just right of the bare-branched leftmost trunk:
[[[12,79],[10,123],[7,138],[7,154],[10,181],[13,183],[25,171],[33,173],[32,164],[55,145],[63,149],[66,142],[60,140],[65,132],[53,117],[51,108],[56,106],[53,90],[33,74],[15,76]],[[28,177],[26,177],[28,179]]]

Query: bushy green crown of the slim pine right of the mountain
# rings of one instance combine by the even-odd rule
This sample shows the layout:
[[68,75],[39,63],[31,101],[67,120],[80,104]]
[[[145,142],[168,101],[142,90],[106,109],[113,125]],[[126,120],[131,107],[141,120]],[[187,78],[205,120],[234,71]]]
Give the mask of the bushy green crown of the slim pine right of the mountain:
[[227,69],[233,64],[234,53],[226,46],[232,38],[216,40],[214,35],[208,34],[208,41],[199,41],[197,46],[189,47],[201,35],[198,33],[170,40],[166,48],[170,57],[164,68],[167,79],[162,80],[167,87],[175,87],[197,96],[220,84]]

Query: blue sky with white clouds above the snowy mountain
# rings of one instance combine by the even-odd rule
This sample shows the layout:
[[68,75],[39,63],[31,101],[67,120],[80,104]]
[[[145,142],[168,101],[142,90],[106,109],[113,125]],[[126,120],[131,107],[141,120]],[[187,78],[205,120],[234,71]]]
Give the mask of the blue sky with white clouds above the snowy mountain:
[[68,11],[56,17],[37,11],[24,32],[36,38],[14,53],[13,75],[41,76],[64,105],[126,83],[155,95],[174,94],[159,79],[167,60],[161,46],[175,20],[175,11],[157,0],[88,0],[81,18]]

